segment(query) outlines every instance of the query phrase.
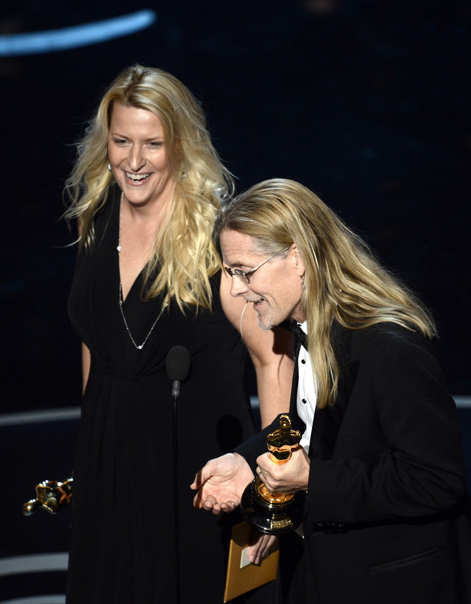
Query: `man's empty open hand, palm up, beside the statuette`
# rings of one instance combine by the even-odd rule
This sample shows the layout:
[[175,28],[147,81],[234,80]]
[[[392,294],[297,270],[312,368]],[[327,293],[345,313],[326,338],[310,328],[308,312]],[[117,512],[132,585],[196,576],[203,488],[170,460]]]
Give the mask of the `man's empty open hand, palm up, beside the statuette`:
[[213,510],[213,514],[232,512],[240,505],[242,493],[252,480],[254,474],[242,455],[228,453],[211,459],[190,486],[190,489],[199,489],[193,505],[197,509]]

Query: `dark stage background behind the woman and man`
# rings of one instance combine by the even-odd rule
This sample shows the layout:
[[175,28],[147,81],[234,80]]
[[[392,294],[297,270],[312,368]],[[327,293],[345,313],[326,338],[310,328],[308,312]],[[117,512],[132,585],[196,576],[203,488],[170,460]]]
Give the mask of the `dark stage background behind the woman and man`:
[[[450,393],[471,395],[471,4],[15,0],[2,4],[0,34],[141,8],[158,19],[139,33],[0,57],[0,413],[80,403],[80,344],[66,316],[75,233],[60,220],[62,187],[101,92],[135,62],[196,94],[239,190],[292,178],[338,211],[431,307]],[[471,458],[471,410],[458,411]],[[0,426],[0,557],[67,550],[69,511],[19,510],[36,482],[70,473],[76,429]],[[64,574],[0,576],[0,600],[63,594]]]

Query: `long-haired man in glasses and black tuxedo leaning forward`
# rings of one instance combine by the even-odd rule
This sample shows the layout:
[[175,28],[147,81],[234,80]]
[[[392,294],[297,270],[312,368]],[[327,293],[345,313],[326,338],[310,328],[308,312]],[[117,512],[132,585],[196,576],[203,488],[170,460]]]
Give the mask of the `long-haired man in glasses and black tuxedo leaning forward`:
[[255,474],[272,493],[307,491],[289,602],[470,602],[463,452],[428,311],[296,182],[255,185],[216,226],[231,294],[253,303],[261,329],[295,333],[290,418],[303,437],[271,463],[277,418],[203,467],[194,505],[231,511]]

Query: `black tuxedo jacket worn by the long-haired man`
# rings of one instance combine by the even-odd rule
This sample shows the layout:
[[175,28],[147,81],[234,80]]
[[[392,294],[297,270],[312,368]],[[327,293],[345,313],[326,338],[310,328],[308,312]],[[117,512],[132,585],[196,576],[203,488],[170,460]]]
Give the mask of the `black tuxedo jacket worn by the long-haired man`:
[[[471,604],[463,452],[434,347],[394,323],[336,323],[332,341],[341,379],[334,405],[314,416],[290,602]],[[303,432],[297,367],[290,417]],[[253,470],[278,425],[235,449]]]

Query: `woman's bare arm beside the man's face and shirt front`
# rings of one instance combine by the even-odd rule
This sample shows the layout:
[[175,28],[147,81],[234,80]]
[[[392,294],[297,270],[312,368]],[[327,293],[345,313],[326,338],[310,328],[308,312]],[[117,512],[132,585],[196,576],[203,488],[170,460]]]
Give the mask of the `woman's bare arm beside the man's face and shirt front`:
[[231,277],[222,271],[221,304],[228,320],[239,333],[243,312],[242,337],[254,363],[255,373],[257,373],[261,427],[264,428],[278,414],[289,411],[294,367],[294,340],[292,334],[281,327],[268,331],[258,327],[257,313],[252,304],[246,306],[243,298],[232,297],[230,289]]

